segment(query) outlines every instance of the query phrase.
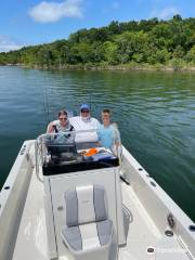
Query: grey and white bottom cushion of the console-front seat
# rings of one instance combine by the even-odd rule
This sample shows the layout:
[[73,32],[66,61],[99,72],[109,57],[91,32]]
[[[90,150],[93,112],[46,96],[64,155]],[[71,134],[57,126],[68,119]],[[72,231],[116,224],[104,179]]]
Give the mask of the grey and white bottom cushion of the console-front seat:
[[106,246],[113,234],[110,220],[88,223],[78,226],[66,226],[62,230],[63,240],[76,251]]

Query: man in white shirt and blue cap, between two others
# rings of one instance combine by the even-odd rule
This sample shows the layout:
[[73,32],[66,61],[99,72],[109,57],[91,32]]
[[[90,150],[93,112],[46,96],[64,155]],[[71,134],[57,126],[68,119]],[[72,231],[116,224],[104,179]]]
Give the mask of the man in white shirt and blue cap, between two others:
[[[77,142],[96,142],[96,129],[101,126],[99,120],[90,115],[90,107],[88,104],[80,106],[80,116],[70,117],[70,125],[76,131],[86,131],[76,134]],[[89,130],[89,131],[88,131]],[[92,131],[94,130],[94,131]]]

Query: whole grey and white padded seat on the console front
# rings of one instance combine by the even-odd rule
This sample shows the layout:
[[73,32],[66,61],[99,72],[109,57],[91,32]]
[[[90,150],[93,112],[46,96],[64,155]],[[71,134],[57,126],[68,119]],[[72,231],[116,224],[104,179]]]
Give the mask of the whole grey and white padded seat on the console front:
[[76,186],[65,193],[63,242],[76,260],[108,260],[113,222],[107,218],[102,185]]

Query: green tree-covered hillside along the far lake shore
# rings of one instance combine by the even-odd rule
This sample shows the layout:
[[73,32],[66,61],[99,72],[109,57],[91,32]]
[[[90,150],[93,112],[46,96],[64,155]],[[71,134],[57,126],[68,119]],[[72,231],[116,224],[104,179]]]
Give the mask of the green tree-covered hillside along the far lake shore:
[[0,65],[195,70],[195,18],[112,22],[78,30],[68,39],[1,52]]

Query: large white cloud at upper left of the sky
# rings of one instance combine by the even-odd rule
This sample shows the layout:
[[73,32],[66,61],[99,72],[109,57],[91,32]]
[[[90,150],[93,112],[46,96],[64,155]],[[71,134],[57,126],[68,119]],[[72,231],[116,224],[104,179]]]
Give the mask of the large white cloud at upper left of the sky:
[[54,23],[63,17],[82,17],[82,0],[66,0],[63,2],[46,2],[31,8],[30,17],[40,23]]

